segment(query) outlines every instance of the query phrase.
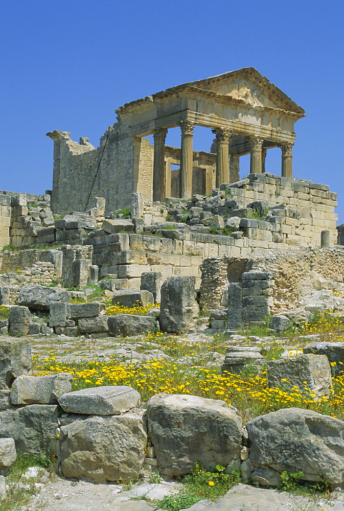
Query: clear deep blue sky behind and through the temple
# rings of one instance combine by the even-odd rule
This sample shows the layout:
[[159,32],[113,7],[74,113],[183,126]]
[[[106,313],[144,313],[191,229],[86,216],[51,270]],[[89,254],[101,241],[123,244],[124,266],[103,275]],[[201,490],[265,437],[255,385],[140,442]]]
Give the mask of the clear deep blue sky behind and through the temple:
[[[343,18],[339,0],[3,0],[0,189],[51,189],[47,131],[98,146],[124,103],[253,66],[306,110],[295,124],[294,177],[329,184],[342,223]],[[208,151],[212,138],[198,128],[194,148]],[[167,143],[179,140],[170,130]],[[266,166],[280,174],[280,150],[268,151]]]

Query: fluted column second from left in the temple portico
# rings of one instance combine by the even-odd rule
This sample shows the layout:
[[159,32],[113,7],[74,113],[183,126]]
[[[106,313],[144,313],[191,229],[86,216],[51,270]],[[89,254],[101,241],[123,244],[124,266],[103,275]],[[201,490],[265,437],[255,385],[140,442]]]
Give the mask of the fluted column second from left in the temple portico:
[[180,121],[179,126],[181,129],[179,196],[181,199],[190,199],[193,166],[192,141],[195,123],[188,120]]

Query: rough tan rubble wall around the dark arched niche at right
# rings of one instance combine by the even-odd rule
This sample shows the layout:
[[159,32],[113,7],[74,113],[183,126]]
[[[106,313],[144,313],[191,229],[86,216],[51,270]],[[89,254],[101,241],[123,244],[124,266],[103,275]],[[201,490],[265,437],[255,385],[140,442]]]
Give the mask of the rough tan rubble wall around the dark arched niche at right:
[[[200,266],[200,303],[213,309],[227,306],[228,282],[243,283],[248,274],[256,274],[250,292],[243,293],[243,308],[248,301],[256,308],[268,307],[268,314],[280,314],[312,304],[335,307],[344,298],[344,248],[294,247],[289,252],[274,252],[262,256],[247,254],[241,258],[209,258]],[[246,276],[245,276],[246,275]],[[258,275],[258,276],[257,276]],[[243,286],[245,287],[245,286]],[[258,292],[260,288],[263,291]],[[255,297],[250,300],[248,296]],[[257,298],[261,296],[261,298]],[[336,298],[339,300],[336,300]],[[246,301],[245,301],[246,298]],[[245,301],[245,303],[244,303]],[[264,320],[267,311],[257,320]],[[253,318],[251,311],[250,317]],[[245,319],[243,317],[243,319]],[[254,320],[254,319],[253,319]],[[247,321],[248,322],[248,317]]]

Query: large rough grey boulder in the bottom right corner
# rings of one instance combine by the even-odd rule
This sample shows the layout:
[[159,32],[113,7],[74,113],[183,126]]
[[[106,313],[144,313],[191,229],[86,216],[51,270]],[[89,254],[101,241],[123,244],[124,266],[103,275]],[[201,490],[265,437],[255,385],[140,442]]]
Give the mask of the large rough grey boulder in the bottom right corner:
[[305,481],[324,479],[330,484],[342,484],[342,421],[311,410],[284,408],[255,417],[246,428],[249,457],[260,471],[266,468],[280,474],[303,472]]

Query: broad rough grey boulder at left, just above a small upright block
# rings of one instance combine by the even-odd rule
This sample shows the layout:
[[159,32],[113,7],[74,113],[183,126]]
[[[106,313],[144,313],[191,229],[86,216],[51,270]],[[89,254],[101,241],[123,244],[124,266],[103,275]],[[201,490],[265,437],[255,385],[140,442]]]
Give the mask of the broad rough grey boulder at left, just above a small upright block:
[[61,288],[39,286],[38,284],[27,284],[22,287],[17,303],[25,305],[30,309],[47,311],[53,301],[66,301],[71,298],[71,293]]

